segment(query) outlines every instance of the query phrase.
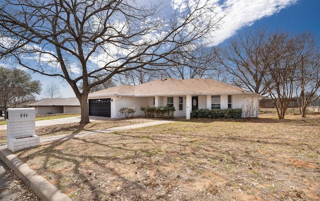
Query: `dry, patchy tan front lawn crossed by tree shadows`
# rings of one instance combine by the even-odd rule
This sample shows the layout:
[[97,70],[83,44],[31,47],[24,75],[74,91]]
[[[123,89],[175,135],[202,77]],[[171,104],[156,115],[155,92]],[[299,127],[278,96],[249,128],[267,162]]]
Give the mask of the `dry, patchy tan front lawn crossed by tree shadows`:
[[320,200],[320,115],[275,118],[177,121],[16,155],[72,200]]

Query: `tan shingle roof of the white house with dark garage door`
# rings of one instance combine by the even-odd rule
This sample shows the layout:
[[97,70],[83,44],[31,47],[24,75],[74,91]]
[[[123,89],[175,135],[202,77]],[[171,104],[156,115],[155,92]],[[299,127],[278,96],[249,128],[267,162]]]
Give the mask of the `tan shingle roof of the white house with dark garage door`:
[[212,79],[193,78],[177,80],[158,79],[136,86],[119,85],[89,93],[89,98],[101,96],[168,96],[168,95],[214,95],[252,92]]

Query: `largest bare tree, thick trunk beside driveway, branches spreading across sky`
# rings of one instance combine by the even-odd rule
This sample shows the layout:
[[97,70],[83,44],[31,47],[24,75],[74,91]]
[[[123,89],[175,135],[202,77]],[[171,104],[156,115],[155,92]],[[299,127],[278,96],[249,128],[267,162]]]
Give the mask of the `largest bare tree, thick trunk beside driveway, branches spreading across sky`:
[[92,87],[125,71],[182,64],[170,55],[219,28],[223,16],[215,3],[183,3],[164,18],[159,5],[134,0],[3,0],[0,58],[65,80],[80,102],[80,124],[86,124]]

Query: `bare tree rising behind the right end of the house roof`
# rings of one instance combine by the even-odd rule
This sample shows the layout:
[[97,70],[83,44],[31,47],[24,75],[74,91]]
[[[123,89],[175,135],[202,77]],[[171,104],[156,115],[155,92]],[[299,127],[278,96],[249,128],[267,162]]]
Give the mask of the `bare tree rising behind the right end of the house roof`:
[[263,51],[268,39],[267,30],[260,28],[230,40],[224,48],[215,50],[218,62],[232,76],[232,84],[254,93],[268,93],[269,83],[265,83],[267,65]]

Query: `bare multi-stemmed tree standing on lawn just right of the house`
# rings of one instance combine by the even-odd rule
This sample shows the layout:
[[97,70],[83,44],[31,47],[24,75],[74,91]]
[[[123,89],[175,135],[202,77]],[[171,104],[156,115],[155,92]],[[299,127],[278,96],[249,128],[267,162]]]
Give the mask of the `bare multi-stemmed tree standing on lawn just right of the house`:
[[299,48],[294,36],[288,33],[278,31],[268,37],[268,44],[265,48],[268,74],[264,79],[267,80],[265,86],[268,87],[268,93],[279,120],[284,119],[289,100],[292,98],[295,70],[301,62],[297,56]]

